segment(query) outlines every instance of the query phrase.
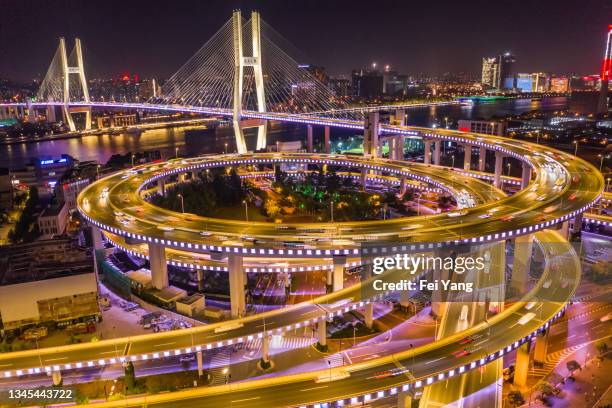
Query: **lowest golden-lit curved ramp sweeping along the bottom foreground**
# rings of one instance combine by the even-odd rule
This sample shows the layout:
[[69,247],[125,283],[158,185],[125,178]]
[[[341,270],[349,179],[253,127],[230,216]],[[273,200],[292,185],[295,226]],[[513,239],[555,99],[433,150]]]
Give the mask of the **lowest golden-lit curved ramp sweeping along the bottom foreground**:
[[[406,383],[414,383],[414,387],[421,388],[451,376],[450,370],[453,370],[452,376],[459,375],[464,370],[477,368],[480,364],[487,364],[493,361],[492,359],[510,352],[534,336],[538,328],[546,325],[549,319],[559,316],[565,309],[564,301],[539,299],[569,299],[575,292],[580,279],[580,265],[574,250],[563,244],[564,240],[555,232],[539,232],[537,237],[546,247],[544,253],[547,267],[541,279],[520,302],[512,304],[505,311],[490,318],[487,323],[480,323],[425,346],[341,368],[134,398],[102,406],[137,406],[146,403],[181,407],[197,403],[234,407],[280,407],[337,400],[348,403],[351,396],[359,397],[368,393],[377,396],[378,392],[381,392],[381,397],[388,396],[393,392],[391,389]],[[532,299],[536,299],[536,307],[531,310],[536,313],[526,319],[525,316],[530,316],[532,312],[525,306]],[[476,333],[486,340],[487,350],[481,348],[469,355],[455,357],[452,353],[463,348],[457,344],[458,340]],[[502,348],[503,353],[488,354]],[[384,375],[395,368],[408,371],[397,376]],[[329,378],[330,372],[332,376],[350,373],[350,377],[333,381],[331,384],[314,381],[317,378]]]

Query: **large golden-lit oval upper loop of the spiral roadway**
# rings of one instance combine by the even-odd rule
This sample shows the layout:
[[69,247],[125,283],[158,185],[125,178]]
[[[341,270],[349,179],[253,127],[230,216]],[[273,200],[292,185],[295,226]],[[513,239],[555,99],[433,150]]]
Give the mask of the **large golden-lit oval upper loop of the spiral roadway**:
[[[386,128],[387,131],[389,130]],[[398,128],[401,133],[404,128]],[[414,132],[414,131],[411,131]],[[175,159],[164,166],[143,165],[118,173],[88,186],[78,197],[81,214],[104,231],[127,237],[132,241],[159,243],[167,248],[193,252],[221,251],[245,256],[322,257],[360,255],[359,240],[397,242],[470,243],[492,242],[532,233],[566,221],[593,205],[603,191],[601,174],[589,163],[572,155],[542,145],[456,131],[421,132],[436,140],[485,147],[512,156],[536,173],[527,189],[497,201],[479,205],[457,217],[447,214],[397,218],[385,221],[351,221],[339,223],[282,224],[221,220],[165,210],[148,204],[139,194],[147,184],[168,176],[219,166],[252,164],[319,164],[351,167],[408,177],[453,191],[459,183],[442,184],[444,168],[372,159],[360,156],[321,155],[310,153],[259,153]],[[107,191],[107,192],[105,192]],[[490,210],[495,209],[495,212]],[[131,220],[123,225],[115,212]],[[489,214],[488,218],[482,218]],[[511,217],[511,218],[510,218]],[[180,222],[175,228],[173,224]],[[160,227],[166,229],[160,229]],[[170,228],[173,228],[170,230]],[[210,232],[209,236],[200,235]],[[408,232],[407,232],[408,231]],[[247,235],[262,244],[232,243],[228,236]],[[335,240],[320,241],[332,236]],[[282,242],[300,239],[309,241],[312,249],[286,249]],[[318,241],[317,241],[318,240]]]

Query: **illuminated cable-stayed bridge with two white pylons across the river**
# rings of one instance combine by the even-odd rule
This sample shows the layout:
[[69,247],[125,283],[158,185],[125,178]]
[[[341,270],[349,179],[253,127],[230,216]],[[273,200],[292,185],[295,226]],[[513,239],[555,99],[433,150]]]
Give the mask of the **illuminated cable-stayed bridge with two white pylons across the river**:
[[[404,125],[405,115],[401,109],[432,105],[348,106],[343,98],[312,75],[308,66],[297,60],[297,54],[287,40],[260,18],[258,12],[252,12],[250,18],[245,19],[236,10],[168,79],[162,87],[161,97],[146,102],[96,101],[88,92],[80,40],[75,40],[75,46],[68,54],[66,41],[61,38],[36,100],[0,106],[26,105],[34,109],[59,105],[71,130],[76,130],[72,118],[75,112],[86,113],[86,128],[90,128],[91,107],[231,117],[237,150],[245,153],[243,130],[257,128],[255,149],[263,149],[268,120],[325,126],[326,150],[329,151],[329,127],[368,128],[370,125],[365,122],[370,119],[370,113],[382,109],[398,110],[393,124]],[[54,116],[49,109],[48,113],[48,116]],[[375,127],[384,133],[384,126],[376,124]],[[391,130],[387,129],[387,132]],[[309,150],[312,150],[311,128],[308,137]]]

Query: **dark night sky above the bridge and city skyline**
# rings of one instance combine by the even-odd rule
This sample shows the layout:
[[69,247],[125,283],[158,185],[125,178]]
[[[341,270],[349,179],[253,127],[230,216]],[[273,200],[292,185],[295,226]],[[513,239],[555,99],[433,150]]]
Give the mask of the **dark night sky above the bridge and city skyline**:
[[69,48],[81,38],[90,78],[165,78],[234,8],[259,10],[332,74],[371,61],[408,74],[476,74],[483,56],[504,51],[518,71],[597,73],[612,23],[610,0],[0,0],[0,78],[43,76],[60,36]]

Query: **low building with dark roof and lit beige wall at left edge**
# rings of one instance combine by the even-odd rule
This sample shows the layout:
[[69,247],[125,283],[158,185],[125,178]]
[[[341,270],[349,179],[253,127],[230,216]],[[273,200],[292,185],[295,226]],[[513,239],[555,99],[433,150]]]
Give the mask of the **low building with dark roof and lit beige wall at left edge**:
[[98,320],[91,252],[61,238],[0,247],[0,330]]

